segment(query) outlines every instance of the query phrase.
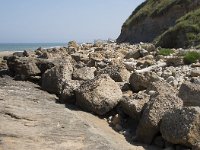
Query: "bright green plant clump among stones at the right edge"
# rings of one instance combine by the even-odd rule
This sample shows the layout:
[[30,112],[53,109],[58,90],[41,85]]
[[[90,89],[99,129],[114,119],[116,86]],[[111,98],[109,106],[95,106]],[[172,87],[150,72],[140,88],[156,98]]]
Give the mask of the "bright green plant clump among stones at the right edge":
[[187,52],[184,56],[184,62],[186,64],[195,63],[199,59],[200,59],[200,53],[196,51]]

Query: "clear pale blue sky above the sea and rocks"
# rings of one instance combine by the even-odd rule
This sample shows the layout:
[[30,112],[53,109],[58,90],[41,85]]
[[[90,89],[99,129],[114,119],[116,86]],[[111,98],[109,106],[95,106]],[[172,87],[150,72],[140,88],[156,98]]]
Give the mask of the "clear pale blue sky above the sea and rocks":
[[144,0],[0,0],[0,43],[116,39]]

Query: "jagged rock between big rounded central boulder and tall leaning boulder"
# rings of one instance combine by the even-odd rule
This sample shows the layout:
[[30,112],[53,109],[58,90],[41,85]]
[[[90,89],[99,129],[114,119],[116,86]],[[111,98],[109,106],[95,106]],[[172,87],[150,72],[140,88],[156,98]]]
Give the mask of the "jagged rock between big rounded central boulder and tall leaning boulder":
[[123,96],[120,106],[127,115],[139,121],[144,105],[149,101],[149,98],[149,95],[140,91],[131,96]]

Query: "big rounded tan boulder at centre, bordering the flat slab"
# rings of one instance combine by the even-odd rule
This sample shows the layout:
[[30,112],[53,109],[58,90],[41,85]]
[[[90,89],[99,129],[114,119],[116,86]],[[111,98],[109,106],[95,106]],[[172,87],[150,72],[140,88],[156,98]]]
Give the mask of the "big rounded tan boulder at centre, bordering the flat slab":
[[106,74],[85,81],[76,91],[77,105],[98,115],[112,110],[121,97],[122,91],[118,84]]

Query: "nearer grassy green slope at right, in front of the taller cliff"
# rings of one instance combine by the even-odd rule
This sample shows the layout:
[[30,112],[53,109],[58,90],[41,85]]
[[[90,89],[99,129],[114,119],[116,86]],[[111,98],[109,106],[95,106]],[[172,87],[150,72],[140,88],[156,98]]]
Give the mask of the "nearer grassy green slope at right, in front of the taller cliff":
[[177,20],[176,25],[157,38],[157,46],[179,48],[200,44],[200,8]]

